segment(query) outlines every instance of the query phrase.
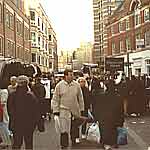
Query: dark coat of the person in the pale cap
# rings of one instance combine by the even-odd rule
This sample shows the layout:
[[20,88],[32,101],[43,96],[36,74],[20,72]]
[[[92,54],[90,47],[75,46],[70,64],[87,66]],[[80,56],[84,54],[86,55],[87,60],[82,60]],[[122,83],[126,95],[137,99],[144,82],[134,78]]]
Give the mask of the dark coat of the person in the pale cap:
[[17,88],[16,92],[8,97],[7,106],[10,129],[20,135],[32,133],[39,120],[39,104],[34,94]]

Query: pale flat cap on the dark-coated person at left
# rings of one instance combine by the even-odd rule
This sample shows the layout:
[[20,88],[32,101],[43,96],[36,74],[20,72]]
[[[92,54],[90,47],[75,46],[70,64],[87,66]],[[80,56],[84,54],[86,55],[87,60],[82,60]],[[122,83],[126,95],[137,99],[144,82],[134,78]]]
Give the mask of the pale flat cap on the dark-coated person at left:
[[25,75],[21,75],[17,77],[17,85],[24,86],[29,84],[29,78]]

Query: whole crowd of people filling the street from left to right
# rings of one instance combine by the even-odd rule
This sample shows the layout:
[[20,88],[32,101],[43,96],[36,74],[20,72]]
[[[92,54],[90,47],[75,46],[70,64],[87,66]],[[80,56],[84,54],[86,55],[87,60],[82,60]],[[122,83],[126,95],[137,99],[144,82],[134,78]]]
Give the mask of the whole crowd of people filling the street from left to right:
[[[66,69],[62,79],[51,80],[51,86],[55,88],[51,101],[44,83],[40,77],[31,80],[20,75],[12,76],[8,87],[1,84],[1,148],[21,149],[24,141],[25,149],[33,149],[34,130],[45,130],[45,100],[51,102],[51,108],[47,106],[46,109],[52,110],[53,115],[59,118],[62,149],[78,145],[81,124],[81,137],[86,137],[89,121],[99,122],[99,143],[104,149],[118,148],[117,128],[124,126],[124,118],[133,113],[139,117],[149,109],[149,97],[145,91],[148,82],[144,78],[132,76],[129,80],[122,74],[121,81],[116,84],[114,76],[74,78],[73,71]],[[51,93],[50,89],[48,93]]]

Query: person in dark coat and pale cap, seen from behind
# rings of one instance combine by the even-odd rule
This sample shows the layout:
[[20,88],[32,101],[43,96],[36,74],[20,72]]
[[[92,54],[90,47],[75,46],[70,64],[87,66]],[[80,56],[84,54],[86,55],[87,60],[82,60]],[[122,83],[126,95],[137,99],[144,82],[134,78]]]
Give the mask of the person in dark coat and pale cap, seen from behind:
[[17,78],[16,92],[8,98],[10,128],[13,131],[13,149],[21,149],[23,139],[26,149],[33,149],[33,132],[39,120],[38,100],[28,91],[28,77]]

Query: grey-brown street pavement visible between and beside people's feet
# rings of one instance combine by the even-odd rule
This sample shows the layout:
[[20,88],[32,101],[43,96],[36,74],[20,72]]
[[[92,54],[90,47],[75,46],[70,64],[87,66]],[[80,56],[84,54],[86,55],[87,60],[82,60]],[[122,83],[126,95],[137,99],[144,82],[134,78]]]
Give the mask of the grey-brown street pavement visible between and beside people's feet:
[[[53,119],[46,121],[45,127],[45,132],[35,131],[34,133],[34,150],[60,150],[59,136],[55,132]],[[119,146],[118,150],[150,150],[148,149],[150,147],[150,116],[126,118],[125,127],[128,130],[128,144]],[[89,142],[85,142],[74,150],[80,149],[102,150],[96,144]]]

